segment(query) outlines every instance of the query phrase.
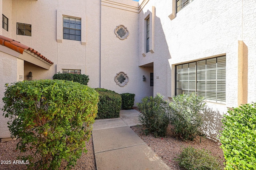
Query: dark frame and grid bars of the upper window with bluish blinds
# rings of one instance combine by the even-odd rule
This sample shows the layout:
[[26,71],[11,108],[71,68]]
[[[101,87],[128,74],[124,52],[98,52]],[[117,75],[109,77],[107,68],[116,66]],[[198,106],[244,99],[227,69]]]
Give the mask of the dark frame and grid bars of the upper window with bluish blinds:
[[[64,25],[64,18],[68,18],[68,27],[66,27],[65,25]],[[73,27],[70,27],[70,19],[74,19],[74,28]],[[79,22],[77,23],[77,21],[80,21],[80,24],[79,24]],[[82,39],[82,20],[81,20],[81,18],[75,18],[75,17],[69,17],[69,16],[63,16],[62,17],[62,26],[63,26],[63,35],[62,35],[62,38],[63,39],[68,39],[68,40],[73,40],[73,41],[81,41],[81,39]],[[80,25],[80,29],[79,28],[76,28],[76,25]],[[67,31],[68,30],[68,32],[69,33],[65,33],[65,30]],[[75,33],[74,34],[72,34],[72,33],[70,33],[70,30],[73,30]],[[80,34],[76,34],[76,32],[80,32]],[[66,38],[64,35],[66,35],[66,36],[68,36],[68,38]],[[74,36],[74,39],[72,39],[72,38],[70,38],[70,35],[73,35]],[[77,36],[79,36],[80,38],[76,38]]]

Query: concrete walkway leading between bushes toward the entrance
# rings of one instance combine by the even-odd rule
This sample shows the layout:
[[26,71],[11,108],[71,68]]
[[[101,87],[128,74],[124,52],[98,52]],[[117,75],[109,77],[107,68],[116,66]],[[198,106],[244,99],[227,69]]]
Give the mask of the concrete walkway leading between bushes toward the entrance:
[[98,119],[92,140],[97,170],[170,170],[130,126],[138,124],[136,110],[121,110],[120,118]]

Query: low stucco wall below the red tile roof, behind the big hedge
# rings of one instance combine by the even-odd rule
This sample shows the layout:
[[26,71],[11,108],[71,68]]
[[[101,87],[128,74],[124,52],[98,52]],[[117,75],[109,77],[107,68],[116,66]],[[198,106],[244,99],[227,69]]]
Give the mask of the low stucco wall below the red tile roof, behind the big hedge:
[[13,57],[11,55],[8,55],[6,53],[3,53],[0,51],[0,138],[8,138],[10,137],[10,132],[7,127],[7,121],[8,118],[4,118],[2,107],[4,106],[2,102],[2,98],[4,97],[5,92],[5,84],[10,84],[17,81],[17,73],[21,72],[21,70],[17,70],[18,62],[20,62],[20,59]]

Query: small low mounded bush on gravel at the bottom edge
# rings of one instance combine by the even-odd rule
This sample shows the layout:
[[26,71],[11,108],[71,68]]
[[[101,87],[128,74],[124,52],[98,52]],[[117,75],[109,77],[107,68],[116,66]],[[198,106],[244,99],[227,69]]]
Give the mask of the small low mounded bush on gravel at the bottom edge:
[[184,148],[177,158],[179,165],[186,170],[221,170],[220,163],[204,149]]

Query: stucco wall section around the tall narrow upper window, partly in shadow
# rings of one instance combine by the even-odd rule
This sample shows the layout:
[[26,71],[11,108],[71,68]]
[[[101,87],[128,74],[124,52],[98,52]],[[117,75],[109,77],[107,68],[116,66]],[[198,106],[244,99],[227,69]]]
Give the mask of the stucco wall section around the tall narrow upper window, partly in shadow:
[[[140,1],[145,3],[145,1]],[[161,2],[150,0],[140,10],[139,14],[139,64],[154,63],[154,95],[160,93],[170,97],[168,93],[171,70],[168,59],[170,55],[170,19],[168,13],[171,8],[168,0]],[[146,53],[146,18],[150,17],[150,52]],[[144,54],[143,54],[144,53]]]

